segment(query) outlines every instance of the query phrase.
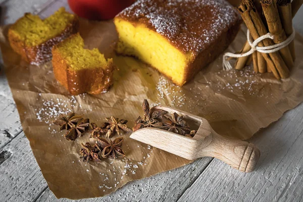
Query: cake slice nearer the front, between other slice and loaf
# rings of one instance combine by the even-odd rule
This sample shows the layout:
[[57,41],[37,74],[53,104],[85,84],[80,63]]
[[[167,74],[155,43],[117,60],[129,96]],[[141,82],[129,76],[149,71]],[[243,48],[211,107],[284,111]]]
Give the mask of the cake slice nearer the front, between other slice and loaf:
[[79,33],[55,45],[53,69],[56,79],[72,94],[105,92],[113,83],[113,59],[106,60],[97,48],[84,49]]

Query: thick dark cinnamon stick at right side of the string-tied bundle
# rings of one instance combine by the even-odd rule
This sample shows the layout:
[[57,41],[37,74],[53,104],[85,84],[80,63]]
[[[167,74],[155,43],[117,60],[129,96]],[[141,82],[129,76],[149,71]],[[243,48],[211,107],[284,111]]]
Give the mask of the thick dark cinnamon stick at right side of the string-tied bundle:
[[[291,16],[291,1],[290,0],[277,0],[277,7],[281,18],[282,27],[286,36],[292,34],[292,16]],[[292,57],[295,60],[294,40],[288,44],[288,48]]]

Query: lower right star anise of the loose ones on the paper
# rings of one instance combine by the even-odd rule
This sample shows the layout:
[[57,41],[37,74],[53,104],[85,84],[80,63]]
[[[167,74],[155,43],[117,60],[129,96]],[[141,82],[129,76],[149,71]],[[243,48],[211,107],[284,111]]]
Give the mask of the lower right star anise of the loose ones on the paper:
[[111,139],[96,138],[97,146],[102,150],[101,156],[103,158],[116,159],[119,157],[125,157],[124,151],[121,146],[124,137],[118,137],[112,141]]

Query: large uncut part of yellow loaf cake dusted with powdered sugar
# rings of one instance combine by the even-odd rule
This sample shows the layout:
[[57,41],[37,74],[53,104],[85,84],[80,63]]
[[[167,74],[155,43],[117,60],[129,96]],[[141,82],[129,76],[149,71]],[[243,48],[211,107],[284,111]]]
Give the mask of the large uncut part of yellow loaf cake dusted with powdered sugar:
[[183,85],[227,48],[241,17],[224,0],[138,0],[114,22],[118,54],[135,56]]

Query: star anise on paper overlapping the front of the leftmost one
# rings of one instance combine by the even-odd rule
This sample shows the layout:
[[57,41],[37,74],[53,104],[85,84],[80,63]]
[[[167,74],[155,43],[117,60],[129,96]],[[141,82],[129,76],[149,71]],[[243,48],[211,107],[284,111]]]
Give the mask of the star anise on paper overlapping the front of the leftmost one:
[[72,128],[64,134],[64,137],[67,140],[75,141],[77,137],[81,136],[82,133],[86,131],[88,126],[89,119],[80,120],[76,125],[72,124]]

